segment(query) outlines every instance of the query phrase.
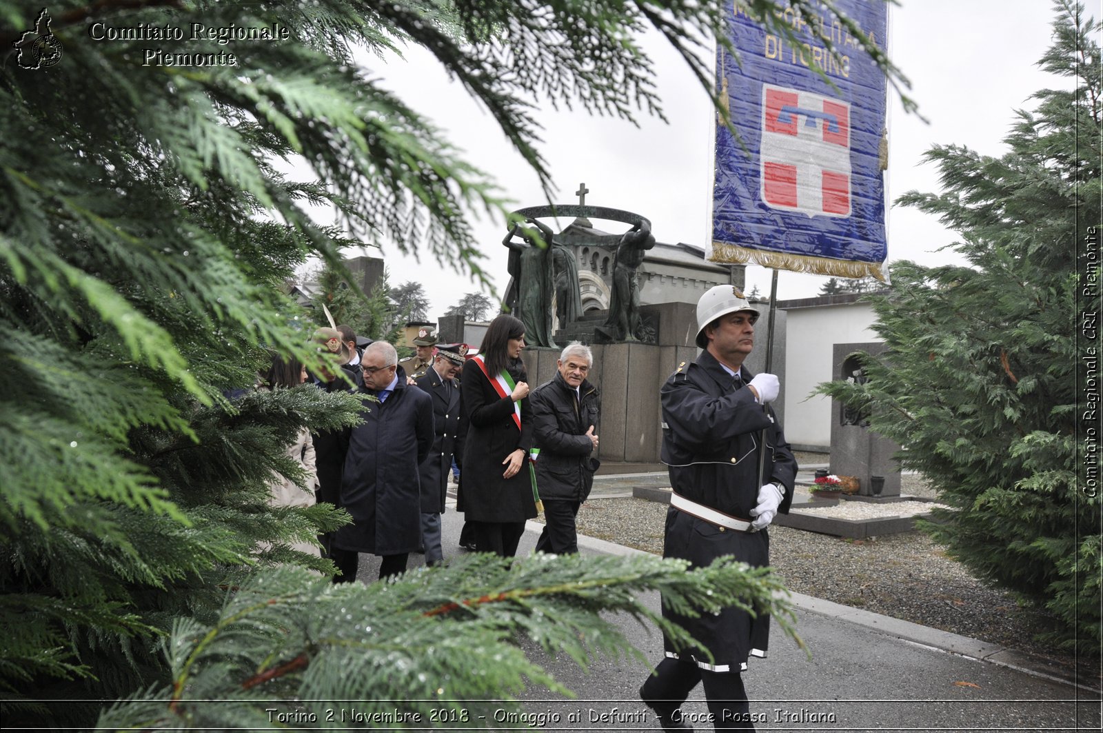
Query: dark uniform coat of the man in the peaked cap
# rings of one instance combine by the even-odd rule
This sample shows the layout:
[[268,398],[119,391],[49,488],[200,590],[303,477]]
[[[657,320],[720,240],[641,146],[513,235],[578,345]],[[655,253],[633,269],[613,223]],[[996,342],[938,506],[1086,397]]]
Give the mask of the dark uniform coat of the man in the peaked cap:
[[417,385],[432,396],[432,448],[418,467],[421,476],[421,511],[425,513],[445,511],[448,491],[448,472],[456,463],[463,466],[463,433],[467,432],[467,413],[460,399],[460,385],[453,380],[446,390],[443,380],[436,369],[430,368],[416,380]]

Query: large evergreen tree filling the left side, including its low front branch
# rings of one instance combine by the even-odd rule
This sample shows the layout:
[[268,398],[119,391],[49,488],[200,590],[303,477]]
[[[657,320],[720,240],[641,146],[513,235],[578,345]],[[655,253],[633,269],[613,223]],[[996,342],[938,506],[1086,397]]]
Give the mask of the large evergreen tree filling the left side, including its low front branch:
[[[746,7],[790,38],[771,1]],[[517,637],[580,662],[623,649],[600,612],[647,618],[633,605],[644,588],[705,607],[782,607],[771,605],[774,581],[724,564],[687,574],[657,559],[558,559],[532,572],[472,559],[334,588],[302,570],[329,572],[328,561],[289,548],[346,517],[268,506],[272,471],[303,480],[283,447],[301,426],[349,426],[361,404],[310,387],[247,390],[272,351],[322,365],[313,325],[280,284],[311,256],[340,273],[344,241],[383,238],[479,277],[469,216],[507,213],[493,181],[354,52],[430,50],[550,196],[532,100],[661,114],[642,32],[657,28],[707,82],[697,39],[722,32],[730,12],[689,0],[458,8],[61,0],[50,7],[58,63],[24,68],[9,54],[0,66],[6,726],[265,727],[275,698],[431,699],[437,688],[421,680],[442,669],[457,698],[515,695],[521,674],[558,691],[520,659]],[[39,26],[41,11],[0,7],[0,47]],[[142,65],[148,41],[93,42],[97,21],[293,34],[227,46],[185,31],[158,51],[232,51],[237,65]],[[291,162],[295,180],[280,172]],[[346,240],[312,221],[318,205],[336,212]],[[416,636],[381,636],[393,623]],[[472,673],[475,651],[491,673]],[[115,697],[128,700],[99,702]]]

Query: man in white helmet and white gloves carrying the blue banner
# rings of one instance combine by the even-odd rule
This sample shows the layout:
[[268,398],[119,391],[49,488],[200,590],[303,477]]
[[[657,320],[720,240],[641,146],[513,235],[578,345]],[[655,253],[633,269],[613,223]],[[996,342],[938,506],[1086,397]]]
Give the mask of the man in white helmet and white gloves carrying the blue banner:
[[[718,285],[697,302],[696,361],[682,363],[663,385],[662,459],[671,476],[663,555],[693,566],[733,555],[751,566],[770,564],[767,527],[788,512],[796,460],[769,403],[780,383],[742,365],[754,348],[758,311],[737,288]],[[765,458],[759,480],[759,447]],[[768,615],[728,606],[719,614],[663,615],[711,654],[664,639],[666,658],[640,688],[664,731],[690,730],[681,703],[702,682],[716,729],[753,729],[740,672],[748,657],[764,657]]]

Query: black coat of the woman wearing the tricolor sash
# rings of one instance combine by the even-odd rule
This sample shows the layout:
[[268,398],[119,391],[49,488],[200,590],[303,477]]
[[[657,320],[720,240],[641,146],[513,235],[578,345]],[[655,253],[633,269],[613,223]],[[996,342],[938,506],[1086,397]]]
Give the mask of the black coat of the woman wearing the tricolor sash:
[[512,478],[502,478],[502,461],[521,448],[533,447],[532,406],[521,401],[521,431],[513,419],[513,400],[497,396],[490,380],[473,360],[463,365],[461,392],[468,413],[463,444],[463,470],[457,509],[469,521],[522,522],[536,516],[533,479],[528,466]]

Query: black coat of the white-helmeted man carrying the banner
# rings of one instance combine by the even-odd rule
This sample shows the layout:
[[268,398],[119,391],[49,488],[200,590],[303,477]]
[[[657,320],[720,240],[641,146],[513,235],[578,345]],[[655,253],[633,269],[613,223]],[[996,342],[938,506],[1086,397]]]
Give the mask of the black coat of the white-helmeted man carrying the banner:
[[[779,508],[789,512],[796,478],[796,459],[781,426],[763,413],[746,387],[751,374],[741,371],[743,386],[732,389],[732,378],[707,351],[697,361],[683,363],[663,385],[663,463],[670,467],[671,486],[677,493],[726,514],[749,520],[758,503],[758,455],[761,431],[767,429],[767,468],[762,484],[775,482],[785,490]],[[773,416],[773,411],[770,411]],[[733,555],[758,567],[770,564],[770,537],[720,528],[673,507],[666,516],[663,548],[666,557],[688,560],[693,566],[708,565],[721,555]],[[715,671],[738,672],[749,656],[764,657],[769,616],[752,617],[728,606],[719,614],[697,618],[675,614],[663,606],[666,618],[682,625],[704,644],[715,660],[695,659]],[[665,639],[668,654],[678,649]],[[688,658],[693,659],[692,655]]]

